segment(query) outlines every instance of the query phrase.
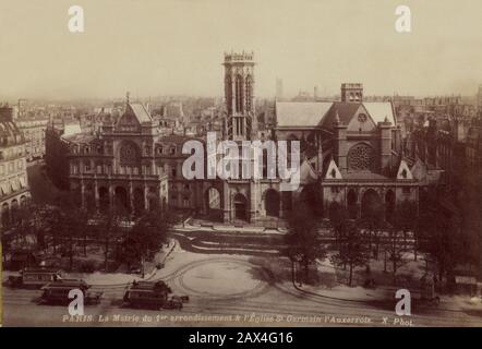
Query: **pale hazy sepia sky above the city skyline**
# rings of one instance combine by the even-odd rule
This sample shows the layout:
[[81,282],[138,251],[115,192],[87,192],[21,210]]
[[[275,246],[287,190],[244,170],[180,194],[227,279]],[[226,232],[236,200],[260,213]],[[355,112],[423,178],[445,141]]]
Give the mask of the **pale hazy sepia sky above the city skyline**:
[[[68,9],[85,33],[68,31]],[[407,4],[412,33],[395,31]],[[254,50],[255,93],[473,95],[480,0],[1,0],[0,98],[222,95],[225,51]]]

